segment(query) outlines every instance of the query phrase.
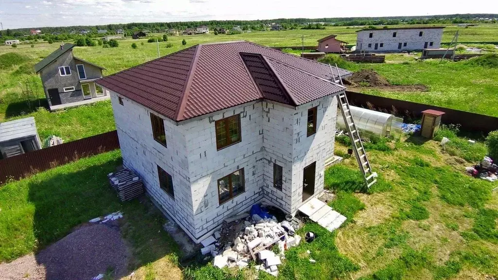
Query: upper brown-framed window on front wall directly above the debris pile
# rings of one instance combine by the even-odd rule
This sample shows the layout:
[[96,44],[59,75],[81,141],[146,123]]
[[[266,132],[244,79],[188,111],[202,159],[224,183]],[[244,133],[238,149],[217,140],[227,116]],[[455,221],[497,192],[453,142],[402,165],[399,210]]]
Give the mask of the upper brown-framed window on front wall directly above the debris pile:
[[216,148],[218,150],[238,143],[241,138],[241,115],[235,115],[215,122]]

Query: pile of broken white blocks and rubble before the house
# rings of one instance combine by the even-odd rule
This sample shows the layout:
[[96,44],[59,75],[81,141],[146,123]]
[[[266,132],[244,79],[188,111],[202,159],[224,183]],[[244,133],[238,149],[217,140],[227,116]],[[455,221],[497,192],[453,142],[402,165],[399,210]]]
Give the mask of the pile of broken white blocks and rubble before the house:
[[201,253],[211,254],[213,265],[218,268],[245,268],[254,260],[258,264],[256,269],[277,276],[284,251],[301,242],[301,236],[295,232],[302,223],[296,218],[277,222],[275,216],[267,213],[262,216],[243,214],[225,220],[220,231],[201,242],[204,246]]

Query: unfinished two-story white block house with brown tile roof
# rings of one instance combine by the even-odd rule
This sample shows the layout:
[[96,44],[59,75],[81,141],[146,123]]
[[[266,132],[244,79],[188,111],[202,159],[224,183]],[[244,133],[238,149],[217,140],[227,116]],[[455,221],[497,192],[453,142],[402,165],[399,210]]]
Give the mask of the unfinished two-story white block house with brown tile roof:
[[257,202],[323,191],[342,69],[247,41],[196,45],[103,78],[124,165],[196,242]]

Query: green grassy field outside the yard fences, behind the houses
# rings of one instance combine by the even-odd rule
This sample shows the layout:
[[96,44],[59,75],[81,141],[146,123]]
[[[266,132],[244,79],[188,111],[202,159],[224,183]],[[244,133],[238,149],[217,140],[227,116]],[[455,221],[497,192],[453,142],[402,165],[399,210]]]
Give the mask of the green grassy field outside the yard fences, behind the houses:
[[[305,45],[316,45],[317,39],[331,33],[337,34],[340,40],[354,44],[355,31],[359,28],[341,26],[327,27],[325,30],[300,29],[236,35],[170,36],[168,42],[159,43],[159,50],[160,55],[163,56],[199,43],[235,40],[249,40],[268,46],[295,46],[301,44],[302,36],[304,36]],[[456,30],[456,26],[445,28],[443,41],[450,41]],[[475,27],[459,28],[459,30],[460,41],[498,41],[498,24],[481,24]],[[153,35],[159,36],[160,34]],[[181,44],[183,39],[187,41],[186,46]],[[133,42],[137,43],[137,49],[131,48]],[[119,43],[118,48],[76,47],[74,53],[107,68],[104,75],[110,75],[158,57],[156,44],[147,43],[146,39],[122,40]],[[166,44],[172,44],[172,47],[167,48]],[[481,46],[477,43],[467,45]],[[64,140],[75,140],[114,129],[109,103],[69,109],[56,114],[44,111],[32,112],[33,109],[28,108],[25,98],[21,95],[19,82],[21,84],[26,80],[38,82],[38,96],[44,99],[41,81],[33,73],[32,67],[57,46],[58,43],[36,43],[34,47],[21,44],[17,48],[0,46],[0,121],[21,116],[34,116],[42,138],[55,134]],[[493,49],[493,46],[491,47]],[[466,66],[465,62],[442,64],[436,61],[415,62],[413,57],[395,55],[389,56],[388,62],[382,65],[361,64],[349,67],[351,70],[372,67],[385,75],[391,83],[422,83],[429,87],[429,91],[424,93],[368,90],[369,94],[498,116],[498,104],[495,102],[498,93],[498,70],[496,68]],[[41,100],[42,104],[43,102]]]

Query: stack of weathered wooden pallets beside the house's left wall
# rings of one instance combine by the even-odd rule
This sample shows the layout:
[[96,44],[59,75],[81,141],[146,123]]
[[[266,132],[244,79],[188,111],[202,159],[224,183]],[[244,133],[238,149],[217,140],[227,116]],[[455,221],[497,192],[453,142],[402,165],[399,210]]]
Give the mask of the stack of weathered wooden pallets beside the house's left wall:
[[121,169],[107,175],[109,183],[118,192],[121,201],[131,200],[143,193],[143,183],[132,170]]

